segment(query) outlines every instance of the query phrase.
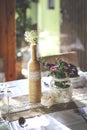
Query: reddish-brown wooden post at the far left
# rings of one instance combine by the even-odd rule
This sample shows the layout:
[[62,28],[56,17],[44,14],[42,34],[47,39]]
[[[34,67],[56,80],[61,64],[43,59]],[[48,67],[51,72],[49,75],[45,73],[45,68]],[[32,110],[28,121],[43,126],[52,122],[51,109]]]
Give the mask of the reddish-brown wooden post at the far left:
[[15,0],[0,0],[0,57],[5,60],[6,81],[16,79]]

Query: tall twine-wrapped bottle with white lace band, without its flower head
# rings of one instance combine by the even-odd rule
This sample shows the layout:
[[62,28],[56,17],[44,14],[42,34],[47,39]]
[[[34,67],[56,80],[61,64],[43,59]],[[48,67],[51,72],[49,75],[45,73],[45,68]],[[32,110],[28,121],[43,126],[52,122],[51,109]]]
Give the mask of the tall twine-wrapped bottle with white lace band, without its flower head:
[[31,44],[31,59],[28,64],[29,70],[29,101],[37,103],[41,100],[41,73],[40,63],[36,57],[36,44]]

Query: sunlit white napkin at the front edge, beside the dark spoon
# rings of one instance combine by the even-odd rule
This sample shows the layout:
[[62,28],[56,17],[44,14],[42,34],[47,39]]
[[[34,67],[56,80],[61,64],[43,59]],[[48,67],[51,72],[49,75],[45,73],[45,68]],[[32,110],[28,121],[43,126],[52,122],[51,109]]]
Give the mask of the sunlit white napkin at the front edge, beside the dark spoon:
[[[49,115],[26,119],[26,124],[27,130],[70,130],[70,128]],[[12,122],[12,125],[15,130],[23,130],[23,128],[19,126],[18,121]]]

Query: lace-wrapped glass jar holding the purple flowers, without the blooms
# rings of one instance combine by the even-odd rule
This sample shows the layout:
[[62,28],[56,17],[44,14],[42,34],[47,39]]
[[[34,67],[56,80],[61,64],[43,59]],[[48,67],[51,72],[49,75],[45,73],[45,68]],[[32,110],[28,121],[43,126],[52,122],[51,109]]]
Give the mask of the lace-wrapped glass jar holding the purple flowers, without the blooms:
[[66,103],[72,99],[72,86],[69,78],[53,78],[51,81],[51,91],[56,95],[56,103]]

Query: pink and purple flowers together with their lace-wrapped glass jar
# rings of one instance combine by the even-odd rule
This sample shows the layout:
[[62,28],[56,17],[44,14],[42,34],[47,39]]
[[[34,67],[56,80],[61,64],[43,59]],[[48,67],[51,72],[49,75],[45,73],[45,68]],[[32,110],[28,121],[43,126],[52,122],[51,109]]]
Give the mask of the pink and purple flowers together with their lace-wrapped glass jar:
[[48,71],[48,76],[52,76],[51,90],[56,95],[56,102],[68,102],[72,98],[71,77],[77,77],[78,70],[76,66],[68,64],[58,58],[55,64],[42,62],[45,69]]

